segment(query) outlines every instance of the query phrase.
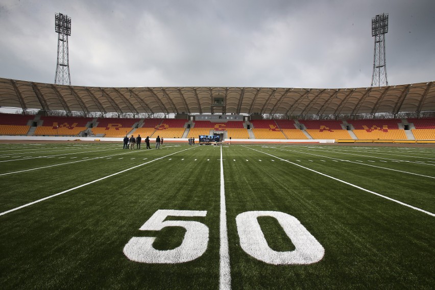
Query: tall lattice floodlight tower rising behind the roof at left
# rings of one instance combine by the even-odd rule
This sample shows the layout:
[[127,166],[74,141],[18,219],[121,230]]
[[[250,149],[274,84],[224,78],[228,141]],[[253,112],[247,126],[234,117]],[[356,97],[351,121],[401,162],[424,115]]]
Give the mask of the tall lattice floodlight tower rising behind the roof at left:
[[56,13],[55,31],[58,34],[55,84],[71,85],[68,58],[68,36],[71,35],[71,18],[62,13]]

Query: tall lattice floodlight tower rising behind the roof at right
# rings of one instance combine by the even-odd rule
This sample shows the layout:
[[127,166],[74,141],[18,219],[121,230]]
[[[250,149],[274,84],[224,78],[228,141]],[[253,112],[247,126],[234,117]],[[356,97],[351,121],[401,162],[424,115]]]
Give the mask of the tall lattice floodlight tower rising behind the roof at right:
[[372,87],[385,84],[386,78],[385,63],[385,33],[388,32],[388,13],[378,14],[372,18],[372,36],[375,37],[375,51],[373,54]]

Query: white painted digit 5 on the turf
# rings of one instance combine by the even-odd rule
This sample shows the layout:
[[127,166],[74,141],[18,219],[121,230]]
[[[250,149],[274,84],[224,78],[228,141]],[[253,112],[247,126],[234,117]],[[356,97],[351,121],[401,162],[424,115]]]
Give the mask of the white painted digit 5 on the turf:
[[207,211],[159,209],[139,230],[159,231],[164,227],[182,227],[186,234],[181,245],[172,250],[156,250],[156,237],[132,237],[124,247],[124,254],[142,263],[183,263],[195,260],[207,250],[208,227],[195,221],[164,221],[167,216],[206,216]]

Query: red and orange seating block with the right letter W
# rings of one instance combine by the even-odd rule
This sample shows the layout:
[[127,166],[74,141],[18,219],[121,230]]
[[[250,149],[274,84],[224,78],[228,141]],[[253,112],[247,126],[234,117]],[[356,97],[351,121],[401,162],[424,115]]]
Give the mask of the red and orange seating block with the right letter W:
[[348,120],[358,139],[403,140],[407,139],[405,130],[399,129],[400,119]]

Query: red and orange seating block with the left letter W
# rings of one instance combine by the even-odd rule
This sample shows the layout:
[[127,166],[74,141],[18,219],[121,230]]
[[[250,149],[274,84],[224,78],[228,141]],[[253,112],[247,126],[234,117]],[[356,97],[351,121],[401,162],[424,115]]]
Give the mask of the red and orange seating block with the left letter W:
[[92,118],[41,116],[42,126],[38,126],[34,135],[44,136],[76,136],[87,129],[86,125]]

